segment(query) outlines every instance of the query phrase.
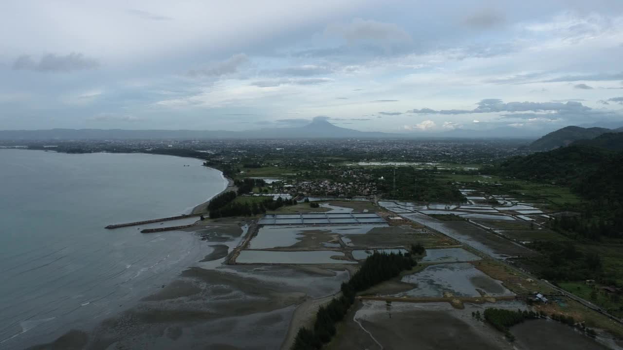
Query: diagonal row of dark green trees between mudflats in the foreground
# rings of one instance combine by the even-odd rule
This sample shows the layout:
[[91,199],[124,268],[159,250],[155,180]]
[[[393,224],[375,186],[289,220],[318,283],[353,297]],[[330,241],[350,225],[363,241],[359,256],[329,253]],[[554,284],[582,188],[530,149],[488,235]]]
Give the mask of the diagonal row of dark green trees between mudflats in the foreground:
[[357,292],[396,277],[402,270],[408,270],[414,265],[416,262],[410,255],[374,253],[369,256],[353,277],[342,283],[342,295],[331,300],[329,305],[320,307],[313,329],[303,327],[298,330],[292,349],[320,349],[335,335],[335,324],[344,318],[348,308],[353,305]]

